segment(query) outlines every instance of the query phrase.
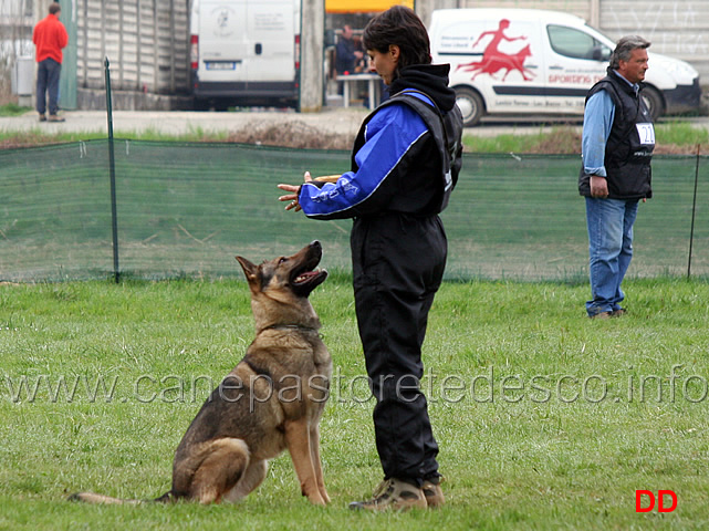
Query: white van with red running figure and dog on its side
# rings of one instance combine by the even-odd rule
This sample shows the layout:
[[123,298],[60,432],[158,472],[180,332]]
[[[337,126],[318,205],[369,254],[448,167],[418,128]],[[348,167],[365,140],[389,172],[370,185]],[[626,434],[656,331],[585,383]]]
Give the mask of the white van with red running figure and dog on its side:
[[[588,88],[606,75],[615,43],[583,19],[534,9],[435,10],[434,62],[450,63],[466,126],[486,114],[583,115]],[[653,117],[700,107],[699,74],[648,51],[643,91]]]

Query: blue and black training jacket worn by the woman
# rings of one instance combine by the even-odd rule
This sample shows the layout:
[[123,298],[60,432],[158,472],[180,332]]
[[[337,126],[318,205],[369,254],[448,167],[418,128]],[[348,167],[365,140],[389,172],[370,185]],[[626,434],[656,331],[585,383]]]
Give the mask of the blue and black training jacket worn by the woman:
[[460,170],[462,119],[441,115],[432,100],[403,91],[365,118],[352,170],[336,183],[305,183],[299,202],[309,218],[338,219],[400,212],[439,214]]

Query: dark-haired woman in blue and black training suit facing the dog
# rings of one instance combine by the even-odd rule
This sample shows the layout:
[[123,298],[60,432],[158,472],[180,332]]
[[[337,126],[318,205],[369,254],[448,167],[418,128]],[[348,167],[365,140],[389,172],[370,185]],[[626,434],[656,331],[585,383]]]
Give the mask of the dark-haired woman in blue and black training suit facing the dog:
[[385,481],[357,509],[438,507],[438,445],[426,397],[421,344],[446,266],[438,214],[461,164],[462,117],[448,87],[449,65],[430,64],[420,19],[394,7],[374,18],[363,41],[390,98],[367,116],[352,170],[336,183],[279,185],[286,209],[309,218],[353,218],[351,246],[359,337],[376,398],[374,426]]

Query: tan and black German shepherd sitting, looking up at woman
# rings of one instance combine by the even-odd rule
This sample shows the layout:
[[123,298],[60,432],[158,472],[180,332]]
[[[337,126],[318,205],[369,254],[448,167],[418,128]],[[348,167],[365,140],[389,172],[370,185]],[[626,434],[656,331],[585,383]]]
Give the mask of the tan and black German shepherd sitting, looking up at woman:
[[[315,269],[321,257],[319,241],[260,266],[237,257],[251,290],[256,339],[183,437],[173,462],[173,488],[153,501],[237,501],[263,481],[268,460],[285,448],[303,496],[319,506],[330,501],[317,425],[329,397],[332,360],[307,300],[327,277]],[[140,503],[92,492],[70,499]]]

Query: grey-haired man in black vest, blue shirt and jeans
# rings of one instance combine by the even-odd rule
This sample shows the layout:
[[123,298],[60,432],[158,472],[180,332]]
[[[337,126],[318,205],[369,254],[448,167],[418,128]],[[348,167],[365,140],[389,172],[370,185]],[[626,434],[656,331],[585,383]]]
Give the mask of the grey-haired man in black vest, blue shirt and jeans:
[[621,39],[608,74],[586,96],[578,192],[586,198],[592,319],[621,316],[621,283],[633,258],[638,201],[653,196],[650,158],[655,129],[640,95],[648,41]]

